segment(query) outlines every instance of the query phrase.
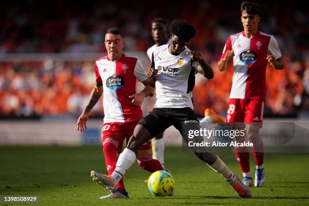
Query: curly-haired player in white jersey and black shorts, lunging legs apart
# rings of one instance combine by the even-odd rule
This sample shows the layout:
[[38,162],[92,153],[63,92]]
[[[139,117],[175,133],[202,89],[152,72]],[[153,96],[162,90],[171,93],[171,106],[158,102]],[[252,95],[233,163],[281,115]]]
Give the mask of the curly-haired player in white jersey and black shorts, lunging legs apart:
[[[126,171],[133,165],[138,147],[158,133],[174,125],[186,142],[187,123],[200,128],[194,116],[189,91],[194,85],[195,71],[208,79],[214,76],[213,70],[202,57],[186,45],[195,35],[194,27],[186,21],[174,20],[170,26],[171,44],[156,47],[152,54],[152,65],[148,77],[155,78],[157,101],[155,109],[140,120],[130,137],[127,147],[120,154],[115,171],[110,175],[98,175],[100,183],[114,190]],[[250,189],[240,178],[233,174],[223,161],[214,153],[194,152],[195,155],[212,169],[222,174],[241,197],[251,197]]]

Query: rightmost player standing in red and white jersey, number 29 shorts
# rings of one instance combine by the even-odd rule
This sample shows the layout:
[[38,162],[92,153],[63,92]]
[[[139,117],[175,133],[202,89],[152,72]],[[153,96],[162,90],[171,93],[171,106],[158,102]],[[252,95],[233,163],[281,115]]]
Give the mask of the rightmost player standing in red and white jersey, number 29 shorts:
[[[254,186],[259,187],[265,182],[264,145],[259,129],[266,97],[266,65],[269,62],[276,69],[283,69],[284,65],[274,36],[258,30],[259,6],[243,2],[240,10],[243,31],[228,37],[218,66],[220,71],[225,71],[228,65],[233,64],[233,84],[226,121],[245,124],[246,137],[253,143],[251,151],[256,165]],[[244,177],[242,181],[250,186],[249,153],[245,151],[246,148],[236,147],[235,156]]]

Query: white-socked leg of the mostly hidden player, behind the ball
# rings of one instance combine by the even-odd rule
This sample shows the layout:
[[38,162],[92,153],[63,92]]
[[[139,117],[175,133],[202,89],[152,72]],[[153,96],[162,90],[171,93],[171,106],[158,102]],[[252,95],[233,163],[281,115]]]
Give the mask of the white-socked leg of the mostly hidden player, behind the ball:
[[159,133],[155,137],[153,137],[151,140],[151,145],[152,145],[152,158],[155,160],[159,160],[162,167],[164,168],[165,145],[164,145],[163,134],[164,132]]

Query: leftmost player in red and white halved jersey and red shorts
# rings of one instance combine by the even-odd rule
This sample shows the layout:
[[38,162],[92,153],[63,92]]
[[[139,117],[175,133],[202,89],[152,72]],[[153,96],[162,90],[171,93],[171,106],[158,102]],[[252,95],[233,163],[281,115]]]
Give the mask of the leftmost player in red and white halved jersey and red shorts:
[[[119,28],[110,28],[105,35],[105,46],[108,52],[106,57],[95,61],[94,69],[96,84],[91,91],[89,102],[78,118],[77,130],[84,131],[87,126],[88,114],[104,94],[104,125],[102,127],[102,144],[106,167],[109,174],[116,168],[117,151],[122,150],[125,138],[132,136],[135,126],[142,118],[140,105],[143,98],[153,92],[153,87],[148,84],[147,74],[137,57],[122,53],[125,41]],[[145,87],[135,93],[136,78]],[[150,141],[143,142],[138,147],[137,161],[141,168],[153,173],[163,170],[158,160],[151,156]],[[91,176],[94,175],[91,173]],[[111,194],[100,198],[128,198],[123,180],[118,181]]]

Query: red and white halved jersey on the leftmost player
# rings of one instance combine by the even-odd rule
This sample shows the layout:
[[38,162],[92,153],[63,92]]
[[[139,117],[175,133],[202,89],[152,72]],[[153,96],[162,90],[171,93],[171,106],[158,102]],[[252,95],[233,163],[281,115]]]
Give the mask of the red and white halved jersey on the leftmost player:
[[142,118],[140,107],[132,104],[136,78],[142,82],[147,74],[137,57],[122,54],[117,62],[108,56],[94,63],[96,82],[103,84],[104,123],[133,122]]

